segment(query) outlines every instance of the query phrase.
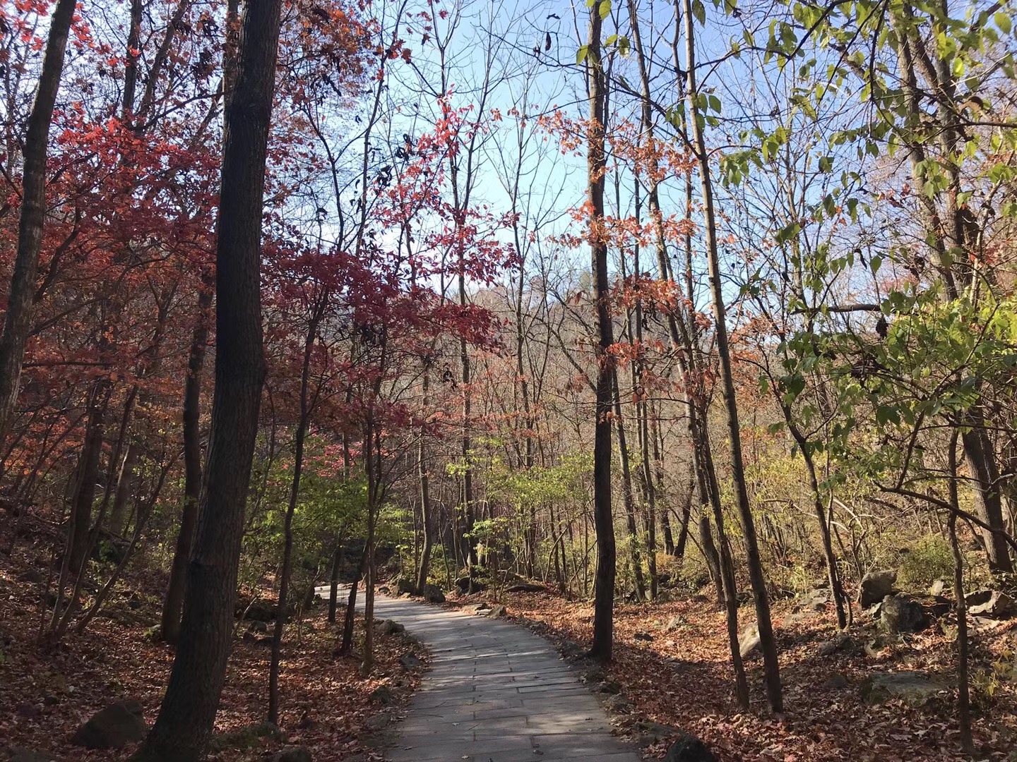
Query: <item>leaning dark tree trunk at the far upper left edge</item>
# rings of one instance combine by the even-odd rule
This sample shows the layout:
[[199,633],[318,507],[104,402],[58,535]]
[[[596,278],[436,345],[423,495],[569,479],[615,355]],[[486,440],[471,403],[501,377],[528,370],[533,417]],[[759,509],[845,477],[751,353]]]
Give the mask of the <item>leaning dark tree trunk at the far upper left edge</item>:
[[0,333],[0,442],[6,438],[17,403],[24,344],[32,329],[33,303],[39,255],[46,221],[46,161],[50,123],[63,74],[67,36],[74,18],[75,0],[57,0],[50,17],[49,39],[39,76],[39,89],[28,115],[21,174],[21,216],[17,229],[14,271],[7,293],[7,312]]

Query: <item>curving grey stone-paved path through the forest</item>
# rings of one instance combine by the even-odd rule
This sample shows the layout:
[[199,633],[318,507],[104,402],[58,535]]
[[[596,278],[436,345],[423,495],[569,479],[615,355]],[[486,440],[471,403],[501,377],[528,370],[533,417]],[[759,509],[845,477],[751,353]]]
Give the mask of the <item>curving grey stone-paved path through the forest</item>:
[[528,630],[381,595],[374,616],[402,623],[433,654],[392,762],[640,762],[576,673]]

